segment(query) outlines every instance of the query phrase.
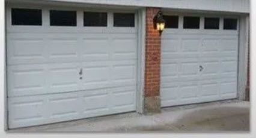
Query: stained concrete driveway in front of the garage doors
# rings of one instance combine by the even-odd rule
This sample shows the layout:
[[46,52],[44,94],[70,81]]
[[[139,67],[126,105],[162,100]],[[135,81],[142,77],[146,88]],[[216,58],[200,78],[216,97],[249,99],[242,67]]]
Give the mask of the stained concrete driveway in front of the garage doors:
[[249,102],[230,100],[163,108],[160,114],[131,112],[19,128],[9,132],[248,132],[249,111]]

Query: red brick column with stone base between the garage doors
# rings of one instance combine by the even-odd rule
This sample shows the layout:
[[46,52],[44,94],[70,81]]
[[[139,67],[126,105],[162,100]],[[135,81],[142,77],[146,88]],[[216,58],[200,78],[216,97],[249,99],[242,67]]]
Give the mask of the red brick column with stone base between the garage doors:
[[159,8],[146,9],[144,112],[160,112],[160,35],[153,18]]

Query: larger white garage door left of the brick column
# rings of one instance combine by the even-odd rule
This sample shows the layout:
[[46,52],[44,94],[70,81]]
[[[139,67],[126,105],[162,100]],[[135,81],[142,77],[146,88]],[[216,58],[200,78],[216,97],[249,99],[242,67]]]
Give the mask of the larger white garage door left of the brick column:
[[7,8],[9,128],[135,111],[134,11]]

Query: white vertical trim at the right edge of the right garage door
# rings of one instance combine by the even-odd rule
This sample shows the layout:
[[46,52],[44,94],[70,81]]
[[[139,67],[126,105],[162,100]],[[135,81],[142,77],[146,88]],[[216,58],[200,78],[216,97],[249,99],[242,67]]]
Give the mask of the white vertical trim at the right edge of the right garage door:
[[240,17],[239,27],[239,63],[237,78],[237,98],[245,100],[247,68],[248,68],[248,47],[249,47],[249,16]]

